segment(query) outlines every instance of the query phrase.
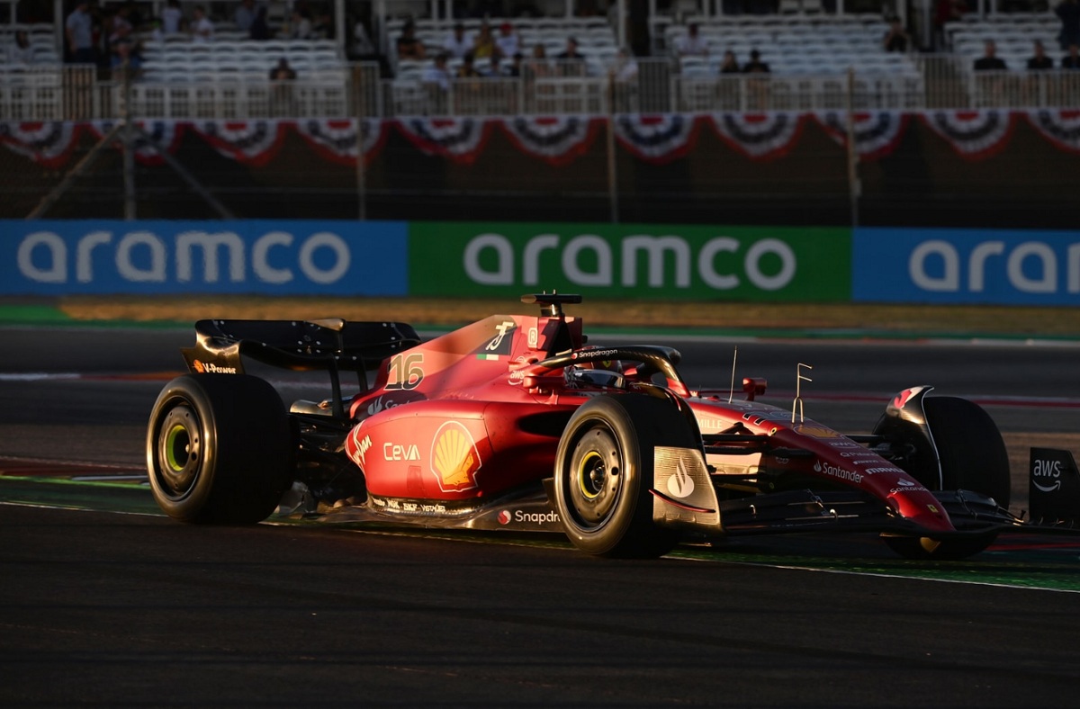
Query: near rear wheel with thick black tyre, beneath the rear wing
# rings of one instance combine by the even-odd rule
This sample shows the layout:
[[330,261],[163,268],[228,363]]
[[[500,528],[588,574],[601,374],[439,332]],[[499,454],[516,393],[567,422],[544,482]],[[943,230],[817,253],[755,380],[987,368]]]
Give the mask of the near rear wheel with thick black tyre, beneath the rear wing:
[[285,407],[266,381],[245,374],[184,374],[158,396],[146,438],[158,506],[194,523],[266,519],[291,483]]

